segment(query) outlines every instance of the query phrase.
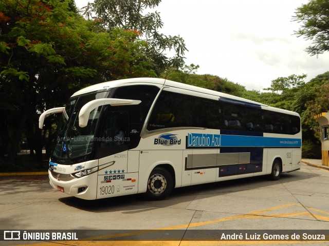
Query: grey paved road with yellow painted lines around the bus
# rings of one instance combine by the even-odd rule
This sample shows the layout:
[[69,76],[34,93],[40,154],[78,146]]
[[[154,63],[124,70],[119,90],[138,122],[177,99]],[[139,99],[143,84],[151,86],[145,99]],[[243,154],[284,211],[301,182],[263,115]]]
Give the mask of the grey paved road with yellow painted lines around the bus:
[[[47,176],[0,177],[0,233],[84,230],[79,240],[0,245],[328,245],[328,235],[311,240],[329,231],[328,188],[329,171],[305,164],[278,181],[263,176],[179,188],[163,201],[139,195],[86,201],[52,189]],[[287,232],[289,240],[257,239],[271,231]],[[290,240],[304,232],[310,237]],[[244,240],[221,238],[240,233]]]

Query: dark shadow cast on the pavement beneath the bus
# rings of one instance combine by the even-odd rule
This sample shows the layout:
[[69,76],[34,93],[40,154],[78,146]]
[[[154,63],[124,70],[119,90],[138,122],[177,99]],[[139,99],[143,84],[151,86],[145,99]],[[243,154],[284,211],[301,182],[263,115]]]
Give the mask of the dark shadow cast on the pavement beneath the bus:
[[98,200],[83,200],[76,197],[64,197],[59,198],[59,201],[67,206],[88,212],[106,213],[121,211],[122,213],[135,214],[159,208],[177,207],[179,204],[184,203],[189,204],[193,200],[198,199],[199,195],[202,195],[202,199],[204,199],[206,197],[221,196],[232,194],[234,192],[266,188],[273,185],[280,185],[282,183],[302,181],[317,176],[319,175],[298,171],[283,173],[278,181],[271,181],[268,176],[256,176],[212,182],[202,185],[176,188],[167,199],[160,201],[145,200],[142,194],[102,198]]

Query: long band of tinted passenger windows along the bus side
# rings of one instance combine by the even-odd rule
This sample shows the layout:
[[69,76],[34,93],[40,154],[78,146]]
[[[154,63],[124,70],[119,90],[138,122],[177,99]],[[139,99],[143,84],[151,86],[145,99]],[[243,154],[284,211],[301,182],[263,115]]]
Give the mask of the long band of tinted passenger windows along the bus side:
[[300,132],[300,118],[257,107],[162,91],[147,129],[171,127],[296,134]]

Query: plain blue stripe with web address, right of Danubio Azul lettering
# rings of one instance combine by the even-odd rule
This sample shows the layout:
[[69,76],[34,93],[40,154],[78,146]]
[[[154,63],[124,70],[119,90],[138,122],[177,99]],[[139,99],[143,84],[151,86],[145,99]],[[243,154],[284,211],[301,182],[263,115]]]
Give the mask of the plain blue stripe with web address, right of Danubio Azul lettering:
[[221,135],[221,147],[279,147],[298,148],[300,138]]

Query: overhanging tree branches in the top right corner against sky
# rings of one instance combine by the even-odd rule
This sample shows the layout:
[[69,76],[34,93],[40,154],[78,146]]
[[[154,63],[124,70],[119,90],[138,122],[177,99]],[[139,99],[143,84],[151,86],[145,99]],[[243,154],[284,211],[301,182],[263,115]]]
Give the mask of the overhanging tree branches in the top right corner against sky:
[[329,50],[329,1],[310,0],[297,8],[294,20],[301,23],[295,34],[313,40],[313,45],[306,48],[310,55],[319,55]]

